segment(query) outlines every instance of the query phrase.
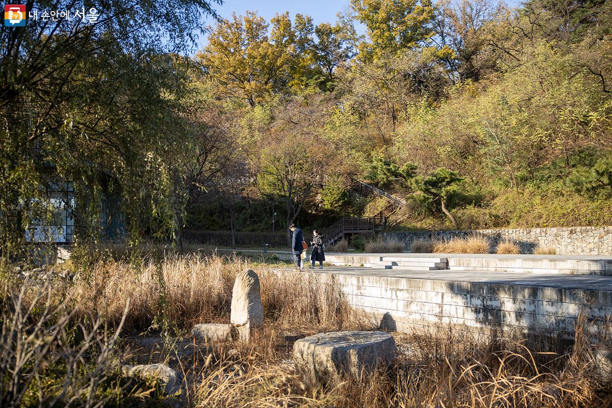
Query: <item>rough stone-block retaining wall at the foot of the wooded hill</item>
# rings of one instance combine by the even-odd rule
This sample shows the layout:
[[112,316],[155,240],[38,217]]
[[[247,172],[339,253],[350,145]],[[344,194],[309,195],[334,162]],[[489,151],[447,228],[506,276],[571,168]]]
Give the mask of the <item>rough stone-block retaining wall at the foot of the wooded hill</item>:
[[447,240],[469,235],[491,239],[493,249],[498,242],[509,239],[521,246],[523,253],[533,253],[537,245],[555,248],[558,254],[612,254],[612,226],[571,228],[476,229],[471,231],[387,232],[386,237],[401,240],[410,248],[414,240]]

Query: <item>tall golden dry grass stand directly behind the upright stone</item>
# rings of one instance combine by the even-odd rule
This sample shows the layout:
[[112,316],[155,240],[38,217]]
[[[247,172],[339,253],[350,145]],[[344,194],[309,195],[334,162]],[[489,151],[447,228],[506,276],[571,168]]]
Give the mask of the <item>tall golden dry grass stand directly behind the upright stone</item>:
[[[168,256],[162,262],[147,259],[140,265],[99,261],[89,273],[78,276],[65,299],[76,313],[86,313],[100,299],[108,299],[105,313],[114,321],[130,300],[128,330],[152,326],[181,332],[201,322],[229,322],[236,273],[248,267],[241,258],[201,255]],[[349,308],[334,276],[275,273],[261,265],[254,269],[267,319],[313,327],[348,324]]]

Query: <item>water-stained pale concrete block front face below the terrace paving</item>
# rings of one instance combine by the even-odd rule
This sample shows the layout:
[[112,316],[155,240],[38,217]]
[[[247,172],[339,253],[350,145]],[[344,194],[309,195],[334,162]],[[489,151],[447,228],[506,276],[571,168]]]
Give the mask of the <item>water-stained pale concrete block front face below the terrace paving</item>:
[[610,336],[612,292],[390,276],[335,275],[348,303],[383,328],[412,332],[453,325],[547,330],[571,338],[581,311],[594,335]]

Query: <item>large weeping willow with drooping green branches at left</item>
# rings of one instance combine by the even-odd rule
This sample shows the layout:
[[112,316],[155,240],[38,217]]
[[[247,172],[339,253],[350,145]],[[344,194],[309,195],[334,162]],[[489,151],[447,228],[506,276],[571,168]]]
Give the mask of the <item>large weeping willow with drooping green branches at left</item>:
[[[53,1],[44,7],[73,10],[81,5]],[[28,12],[38,7],[33,1],[26,4]],[[164,160],[189,146],[180,114],[188,111],[184,73],[189,62],[177,53],[194,45],[200,17],[214,14],[211,3],[111,0],[97,12],[99,19],[91,24],[78,18],[39,18],[23,28],[0,31],[3,256],[18,251],[10,242],[23,234],[15,229],[28,227],[28,217],[15,224],[15,213],[23,210],[23,203],[45,202],[50,173],[70,180],[92,206],[101,206],[97,191],[109,178],[100,172],[110,175],[124,196],[134,233],[143,229],[141,223],[151,222],[171,235],[177,224],[177,163]],[[152,185],[156,188],[147,191]],[[84,223],[99,221],[99,212],[89,214]],[[95,239],[98,232],[82,228],[77,235]]]

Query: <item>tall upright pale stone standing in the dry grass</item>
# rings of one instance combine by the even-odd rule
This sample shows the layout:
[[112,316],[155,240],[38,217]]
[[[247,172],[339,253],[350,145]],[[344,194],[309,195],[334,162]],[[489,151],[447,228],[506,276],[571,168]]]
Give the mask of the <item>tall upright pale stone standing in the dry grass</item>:
[[239,339],[248,341],[250,331],[264,323],[259,277],[252,269],[236,275],[231,297],[231,324],[236,326]]

